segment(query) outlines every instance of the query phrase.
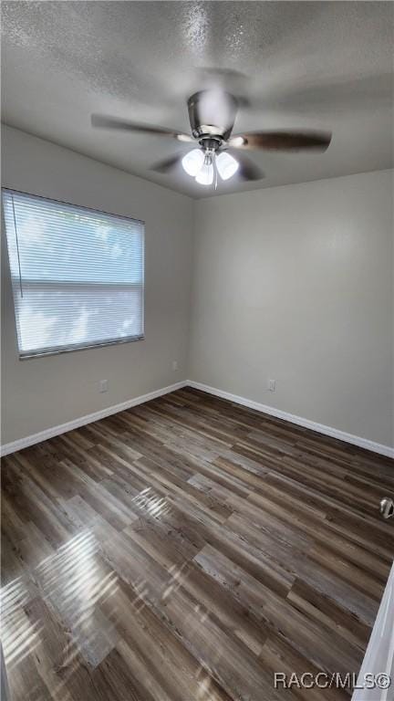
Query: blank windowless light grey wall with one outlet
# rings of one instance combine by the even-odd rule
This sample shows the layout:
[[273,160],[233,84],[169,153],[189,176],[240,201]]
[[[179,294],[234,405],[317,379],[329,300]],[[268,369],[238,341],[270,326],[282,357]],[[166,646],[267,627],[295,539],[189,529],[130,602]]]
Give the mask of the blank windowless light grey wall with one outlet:
[[391,171],[200,200],[190,378],[394,445],[392,200]]

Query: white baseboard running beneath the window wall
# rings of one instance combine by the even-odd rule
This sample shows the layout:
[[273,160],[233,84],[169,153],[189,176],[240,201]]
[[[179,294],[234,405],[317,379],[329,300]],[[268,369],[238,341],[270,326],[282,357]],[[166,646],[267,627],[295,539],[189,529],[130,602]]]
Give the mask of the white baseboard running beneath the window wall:
[[52,426],[52,428],[47,428],[45,431],[40,431],[38,434],[26,435],[25,438],[20,438],[18,441],[2,445],[0,447],[0,455],[16,453],[16,450],[22,450],[22,448],[27,448],[29,445],[35,445],[36,443],[47,441],[48,438],[53,438],[55,435],[66,434],[67,431],[73,431],[75,428],[79,428],[79,426],[84,426],[86,424],[91,424],[93,421],[105,419],[106,416],[110,416],[112,413],[123,412],[125,409],[130,409],[131,406],[137,406],[137,404],[149,402],[150,399],[161,397],[163,394],[180,390],[181,387],[184,387],[187,383],[188,382],[186,381],[175,382],[175,384],[171,384],[168,387],[161,387],[160,390],[154,390],[154,392],[141,394],[140,397],[129,399],[127,402],[114,404],[113,406],[108,406],[106,409],[100,409],[99,412],[88,413],[85,416],[80,416],[78,419],[68,421],[67,424]]

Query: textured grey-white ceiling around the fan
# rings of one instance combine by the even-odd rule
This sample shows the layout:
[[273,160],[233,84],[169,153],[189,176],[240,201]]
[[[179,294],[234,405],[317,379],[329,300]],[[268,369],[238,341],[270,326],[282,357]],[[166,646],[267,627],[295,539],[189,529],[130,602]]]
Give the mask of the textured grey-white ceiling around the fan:
[[[3,2],[3,120],[194,197],[188,147],[94,131],[90,113],[189,131],[186,99],[221,85],[249,100],[234,131],[323,129],[324,154],[253,152],[266,178],[219,194],[388,168],[393,156],[390,2]],[[190,148],[190,146],[189,146]]]

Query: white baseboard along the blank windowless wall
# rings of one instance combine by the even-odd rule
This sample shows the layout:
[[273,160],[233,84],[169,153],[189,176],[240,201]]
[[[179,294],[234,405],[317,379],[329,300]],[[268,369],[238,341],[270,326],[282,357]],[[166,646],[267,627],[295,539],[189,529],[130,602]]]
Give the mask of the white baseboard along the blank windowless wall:
[[316,424],[315,421],[304,419],[302,416],[296,416],[294,413],[283,412],[281,409],[275,409],[273,406],[254,402],[252,399],[246,399],[245,397],[240,397],[237,394],[231,394],[230,392],[218,390],[208,384],[202,384],[202,382],[188,380],[186,384],[189,387],[194,387],[196,390],[208,392],[209,394],[213,394],[216,397],[221,397],[222,399],[228,399],[229,402],[242,404],[243,406],[247,406],[249,409],[255,409],[257,412],[268,413],[270,416],[275,416],[277,419],[285,419],[285,421],[289,421],[291,424],[297,424],[298,426],[303,426],[304,428],[310,428],[312,431],[316,431],[318,434],[329,435],[331,438],[337,438],[339,441],[345,441],[346,443],[358,445],[360,448],[366,448],[366,450],[371,450],[374,453],[379,453],[380,455],[387,455],[387,457],[394,458],[394,448],[391,448],[389,445],[374,443],[374,441],[368,441],[367,438],[347,434],[345,431],[339,431],[337,428],[332,428],[331,426],[326,426],[325,424]]

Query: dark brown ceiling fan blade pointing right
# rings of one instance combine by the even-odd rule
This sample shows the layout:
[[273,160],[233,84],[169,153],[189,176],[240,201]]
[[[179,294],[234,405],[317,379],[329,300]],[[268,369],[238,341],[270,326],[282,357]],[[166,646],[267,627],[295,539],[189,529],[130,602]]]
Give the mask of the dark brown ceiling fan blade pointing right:
[[326,151],[331,134],[318,131],[253,131],[229,140],[233,149],[265,151]]

